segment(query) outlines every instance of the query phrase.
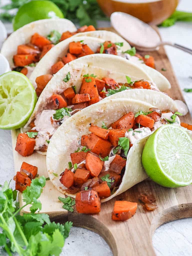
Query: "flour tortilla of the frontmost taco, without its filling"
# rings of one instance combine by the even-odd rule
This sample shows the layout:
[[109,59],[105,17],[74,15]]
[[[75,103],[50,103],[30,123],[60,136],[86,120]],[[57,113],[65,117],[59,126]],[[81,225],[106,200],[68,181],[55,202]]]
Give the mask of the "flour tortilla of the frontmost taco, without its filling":
[[[65,193],[66,187],[60,183],[59,175],[65,168],[68,168],[68,162],[71,161],[70,153],[79,147],[80,137],[90,133],[90,123],[101,127],[104,122],[109,127],[112,122],[125,113],[130,111],[136,113],[140,110],[148,112],[151,107],[151,104],[142,101],[113,99],[101,101],[72,115],[57,129],[50,140],[46,157],[50,181],[61,193],[75,198],[75,194]],[[147,178],[141,163],[142,150],[146,140],[145,138],[142,141],[137,141],[130,148],[122,183],[113,195],[102,199],[101,202],[110,200]],[[53,173],[58,176],[56,177]]]

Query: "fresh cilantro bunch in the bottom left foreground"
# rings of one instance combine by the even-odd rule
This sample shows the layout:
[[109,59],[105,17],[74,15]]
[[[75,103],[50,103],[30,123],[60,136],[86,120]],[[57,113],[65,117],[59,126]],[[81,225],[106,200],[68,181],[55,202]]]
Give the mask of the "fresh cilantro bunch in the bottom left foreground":
[[[0,227],[3,231],[0,234],[0,245],[8,255],[12,255],[12,252],[20,256],[60,255],[72,222],[56,224],[50,221],[47,214],[35,214],[41,209],[38,199],[45,182],[44,176],[32,179],[31,185],[23,191],[25,205],[21,208],[18,208],[16,201],[17,191],[9,188],[8,182],[1,186]],[[20,210],[27,205],[31,205],[31,213],[19,215]]]

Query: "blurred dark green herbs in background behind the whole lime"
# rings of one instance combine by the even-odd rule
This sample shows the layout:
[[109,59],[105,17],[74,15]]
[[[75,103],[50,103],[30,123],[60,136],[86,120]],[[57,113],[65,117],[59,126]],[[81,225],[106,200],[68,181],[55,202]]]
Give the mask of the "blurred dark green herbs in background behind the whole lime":
[[[0,19],[12,21],[14,15],[9,14],[8,10],[19,8],[27,2],[26,0],[11,0],[10,4],[1,7],[5,12],[0,14]],[[79,22],[80,26],[93,25],[97,27],[96,20],[109,20],[96,0],[51,0],[51,2],[60,8],[66,19]]]

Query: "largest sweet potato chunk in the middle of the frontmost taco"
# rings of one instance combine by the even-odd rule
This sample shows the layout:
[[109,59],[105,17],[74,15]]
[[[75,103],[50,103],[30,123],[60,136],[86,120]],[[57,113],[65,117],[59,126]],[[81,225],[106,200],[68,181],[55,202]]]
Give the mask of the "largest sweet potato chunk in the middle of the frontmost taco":
[[111,142],[103,140],[94,133],[84,136],[81,137],[81,142],[84,144],[81,144],[82,146],[86,145],[93,153],[97,154],[98,156],[101,155],[101,157],[105,157],[109,155],[113,147]]

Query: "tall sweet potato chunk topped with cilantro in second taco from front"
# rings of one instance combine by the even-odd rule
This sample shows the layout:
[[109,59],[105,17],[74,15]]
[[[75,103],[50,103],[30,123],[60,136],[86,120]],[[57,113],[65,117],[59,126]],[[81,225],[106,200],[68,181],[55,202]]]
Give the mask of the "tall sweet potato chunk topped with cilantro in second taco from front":
[[94,97],[99,97],[99,93],[97,90],[96,82],[94,77],[84,77],[80,92],[81,94],[83,93],[88,93],[90,95],[90,99]]

